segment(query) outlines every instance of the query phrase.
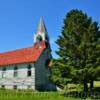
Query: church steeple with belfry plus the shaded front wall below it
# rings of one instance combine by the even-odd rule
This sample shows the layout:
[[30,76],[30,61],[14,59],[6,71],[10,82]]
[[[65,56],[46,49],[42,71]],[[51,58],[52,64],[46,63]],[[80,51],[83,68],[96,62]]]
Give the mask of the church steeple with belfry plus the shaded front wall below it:
[[[34,47],[36,47],[36,51],[40,52],[40,50],[43,50],[40,56],[40,59],[38,59],[38,63],[36,65],[35,74],[36,74],[36,89],[40,90],[54,90],[55,86],[53,83],[49,80],[51,76],[51,48],[50,48],[50,42],[49,42],[49,36],[48,32],[46,30],[44,20],[41,17],[40,22],[38,25],[37,32],[34,34]],[[39,81],[38,81],[39,80]]]

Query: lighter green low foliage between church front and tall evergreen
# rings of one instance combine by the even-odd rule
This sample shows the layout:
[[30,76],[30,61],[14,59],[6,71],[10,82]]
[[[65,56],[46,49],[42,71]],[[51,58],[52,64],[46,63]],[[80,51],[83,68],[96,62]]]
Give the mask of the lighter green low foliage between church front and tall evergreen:
[[70,67],[66,66],[61,59],[53,60],[52,77],[51,80],[61,88],[69,83],[71,79]]

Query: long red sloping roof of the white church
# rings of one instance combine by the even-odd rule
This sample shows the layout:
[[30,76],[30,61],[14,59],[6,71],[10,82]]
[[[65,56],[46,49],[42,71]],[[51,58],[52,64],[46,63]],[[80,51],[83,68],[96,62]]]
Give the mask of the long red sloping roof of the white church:
[[45,42],[41,41],[40,45],[35,43],[32,47],[0,53],[0,66],[37,61],[45,49]]

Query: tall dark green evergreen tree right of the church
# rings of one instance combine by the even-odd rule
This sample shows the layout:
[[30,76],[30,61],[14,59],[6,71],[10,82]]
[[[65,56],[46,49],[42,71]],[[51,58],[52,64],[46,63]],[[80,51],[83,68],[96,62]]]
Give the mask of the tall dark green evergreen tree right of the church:
[[[57,54],[63,66],[70,68],[70,78],[74,83],[83,83],[84,91],[93,90],[93,81],[100,72],[100,31],[98,23],[92,21],[81,10],[71,10],[64,19],[62,33],[56,43]],[[58,66],[57,66],[58,67]],[[62,66],[60,66],[62,67]],[[63,70],[63,67],[60,68]],[[67,69],[64,72],[68,73]],[[67,79],[68,75],[62,79]],[[58,76],[59,77],[59,76]]]

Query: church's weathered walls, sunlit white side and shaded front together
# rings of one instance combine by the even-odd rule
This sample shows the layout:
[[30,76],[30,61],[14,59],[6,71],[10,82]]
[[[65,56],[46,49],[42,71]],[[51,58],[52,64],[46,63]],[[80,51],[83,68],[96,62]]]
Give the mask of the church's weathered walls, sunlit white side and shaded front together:
[[[30,63],[32,66],[32,75],[27,77],[28,65],[26,64],[17,64],[9,66],[0,66],[0,87],[2,85],[5,88],[12,89],[14,85],[17,86],[17,89],[51,89],[53,90],[53,85],[49,80],[51,75],[50,69],[46,66],[46,61],[51,59],[50,49],[46,48],[40,55],[39,59],[35,63]],[[18,76],[14,77],[14,67],[18,67]],[[6,67],[5,77],[2,78],[2,68]]]

